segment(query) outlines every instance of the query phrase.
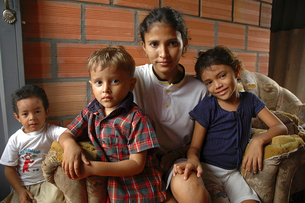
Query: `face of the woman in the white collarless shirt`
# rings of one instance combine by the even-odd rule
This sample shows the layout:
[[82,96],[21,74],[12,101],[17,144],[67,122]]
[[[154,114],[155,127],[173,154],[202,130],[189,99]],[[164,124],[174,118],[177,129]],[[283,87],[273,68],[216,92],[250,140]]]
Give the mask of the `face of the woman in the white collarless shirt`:
[[181,33],[166,24],[155,23],[144,39],[141,45],[158,76],[164,79],[163,76],[176,75],[184,48]]

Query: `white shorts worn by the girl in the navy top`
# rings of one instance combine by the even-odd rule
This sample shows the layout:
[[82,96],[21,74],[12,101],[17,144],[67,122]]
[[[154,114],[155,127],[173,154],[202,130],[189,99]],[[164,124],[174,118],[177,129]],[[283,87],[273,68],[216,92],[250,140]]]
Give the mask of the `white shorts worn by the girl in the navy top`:
[[256,200],[256,192],[248,185],[238,170],[226,170],[201,162],[202,179],[212,202],[242,202]]

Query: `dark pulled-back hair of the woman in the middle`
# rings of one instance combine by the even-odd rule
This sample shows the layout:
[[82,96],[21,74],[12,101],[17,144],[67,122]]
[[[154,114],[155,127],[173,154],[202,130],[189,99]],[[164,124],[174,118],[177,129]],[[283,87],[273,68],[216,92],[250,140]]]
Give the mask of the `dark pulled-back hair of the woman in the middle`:
[[[144,18],[139,25],[139,36],[141,40],[145,42],[144,35],[154,26],[154,23],[164,23],[172,27],[175,31],[181,33],[181,38],[185,44],[188,41],[188,28],[185,25],[185,21],[180,12],[170,8],[154,8]],[[185,47],[186,51],[186,47]]]

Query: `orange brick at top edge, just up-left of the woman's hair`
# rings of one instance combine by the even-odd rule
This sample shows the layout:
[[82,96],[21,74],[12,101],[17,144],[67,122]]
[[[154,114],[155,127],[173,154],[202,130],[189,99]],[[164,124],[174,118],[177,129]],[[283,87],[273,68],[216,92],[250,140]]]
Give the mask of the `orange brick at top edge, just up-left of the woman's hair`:
[[159,0],[114,0],[114,5],[127,6],[131,8],[139,8],[139,9],[152,9],[153,7],[159,7]]

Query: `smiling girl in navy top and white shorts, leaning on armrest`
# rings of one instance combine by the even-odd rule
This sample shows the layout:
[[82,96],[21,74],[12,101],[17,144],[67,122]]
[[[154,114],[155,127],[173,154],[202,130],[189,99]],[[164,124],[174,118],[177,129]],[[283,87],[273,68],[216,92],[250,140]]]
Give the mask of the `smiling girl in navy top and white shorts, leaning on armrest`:
[[[192,170],[202,177],[211,199],[221,202],[257,202],[257,194],[248,186],[238,168],[251,134],[251,119],[258,116],[269,130],[254,138],[242,162],[249,173],[262,170],[263,146],[272,137],[286,135],[286,126],[272,114],[256,95],[238,92],[244,66],[235,53],[224,46],[200,52],[195,65],[196,78],[211,93],[189,114],[195,120],[188,161],[175,164],[174,176]],[[217,187],[210,187],[217,185]],[[215,192],[217,190],[217,192]],[[213,201],[214,202],[214,201]]]

